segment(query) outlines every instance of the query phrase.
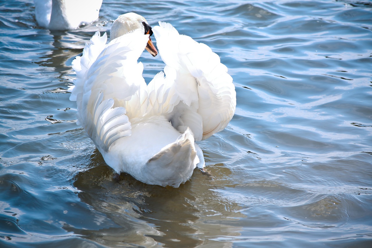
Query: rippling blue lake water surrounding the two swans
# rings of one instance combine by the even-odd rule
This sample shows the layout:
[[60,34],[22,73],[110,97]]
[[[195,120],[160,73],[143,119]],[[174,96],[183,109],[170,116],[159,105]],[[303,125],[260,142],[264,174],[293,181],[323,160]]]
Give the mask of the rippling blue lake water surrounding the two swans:
[[[0,1],[0,247],[372,247],[372,4],[103,0],[80,29]],[[221,57],[237,109],[179,188],[112,180],[71,61],[126,12]],[[154,39],[153,39],[154,40]],[[155,41],[156,44],[156,41]],[[146,82],[164,67],[144,53]]]

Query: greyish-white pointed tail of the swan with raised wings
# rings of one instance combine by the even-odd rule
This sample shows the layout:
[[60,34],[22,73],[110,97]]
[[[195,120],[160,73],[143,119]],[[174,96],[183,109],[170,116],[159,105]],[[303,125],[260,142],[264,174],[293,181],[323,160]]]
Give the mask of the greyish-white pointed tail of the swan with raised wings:
[[171,185],[178,188],[190,179],[200,162],[196,155],[192,131],[188,128],[175,142],[167,145],[148,160],[144,173],[150,175],[147,184]]

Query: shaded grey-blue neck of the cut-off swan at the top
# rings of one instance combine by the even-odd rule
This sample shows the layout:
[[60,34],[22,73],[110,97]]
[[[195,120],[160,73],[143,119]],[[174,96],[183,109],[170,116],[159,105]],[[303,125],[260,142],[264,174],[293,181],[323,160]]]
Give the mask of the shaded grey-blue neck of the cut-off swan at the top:
[[65,0],[52,0],[52,12],[50,16],[49,29],[68,29],[70,22],[66,15]]

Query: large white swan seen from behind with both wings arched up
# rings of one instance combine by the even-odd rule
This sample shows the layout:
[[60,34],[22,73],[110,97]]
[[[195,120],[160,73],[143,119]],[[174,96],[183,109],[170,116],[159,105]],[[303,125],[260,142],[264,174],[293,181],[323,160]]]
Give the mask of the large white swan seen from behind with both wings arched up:
[[[137,59],[151,29],[134,13],[115,22],[123,20],[113,24],[108,45],[97,32],[73,61],[70,100],[77,102],[78,124],[115,172],[179,187],[204,166],[195,141],[223,130],[235,112],[232,78],[207,45],[159,22],[153,32],[166,77],[160,72],[146,85]],[[115,38],[118,26],[127,28]]]

